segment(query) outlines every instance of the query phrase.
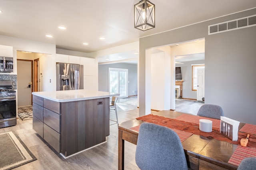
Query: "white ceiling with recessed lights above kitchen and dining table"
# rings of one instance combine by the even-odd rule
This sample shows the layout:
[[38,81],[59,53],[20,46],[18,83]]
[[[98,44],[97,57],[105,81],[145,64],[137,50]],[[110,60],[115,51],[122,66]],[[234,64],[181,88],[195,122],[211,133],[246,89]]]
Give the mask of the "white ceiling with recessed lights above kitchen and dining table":
[[[133,22],[134,4],[139,1],[0,0],[0,35],[91,53],[256,7],[256,0],[151,0],[156,6],[156,27],[141,31]],[[66,30],[58,29],[60,25]]]

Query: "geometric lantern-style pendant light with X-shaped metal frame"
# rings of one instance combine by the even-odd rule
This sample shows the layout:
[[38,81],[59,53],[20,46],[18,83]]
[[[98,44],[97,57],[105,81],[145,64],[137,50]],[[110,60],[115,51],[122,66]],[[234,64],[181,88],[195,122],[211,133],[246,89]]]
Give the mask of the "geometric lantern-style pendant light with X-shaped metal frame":
[[155,5],[142,0],[134,5],[134,28],[142,31],[155,27]]

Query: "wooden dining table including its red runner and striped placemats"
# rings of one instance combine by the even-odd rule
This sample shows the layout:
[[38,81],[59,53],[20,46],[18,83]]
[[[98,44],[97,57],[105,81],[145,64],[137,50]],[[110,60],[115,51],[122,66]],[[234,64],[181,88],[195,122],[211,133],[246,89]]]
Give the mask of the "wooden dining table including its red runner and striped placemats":
[[[212,120],[212,132],[199,130],[200,119]],[[192,170],[236,170],[243,158],[256,157],[256,125],[240,123],[238,141],[232,141],[220,133],[220,119],[162,110],[119,123],[118,170],[125,169],[124,141],[136,145],[139,127],[144,122],[174,130],[182,142],[188,168]],[[240,139],[247,134],[250,134],[248,146],[242,147]]]

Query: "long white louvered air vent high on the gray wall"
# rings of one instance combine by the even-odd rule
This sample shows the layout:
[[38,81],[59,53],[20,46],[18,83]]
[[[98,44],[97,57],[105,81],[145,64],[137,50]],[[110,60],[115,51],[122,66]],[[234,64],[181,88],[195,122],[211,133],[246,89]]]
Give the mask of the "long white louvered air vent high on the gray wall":
[[256,15],[208,26],[208,35],[256,26]]

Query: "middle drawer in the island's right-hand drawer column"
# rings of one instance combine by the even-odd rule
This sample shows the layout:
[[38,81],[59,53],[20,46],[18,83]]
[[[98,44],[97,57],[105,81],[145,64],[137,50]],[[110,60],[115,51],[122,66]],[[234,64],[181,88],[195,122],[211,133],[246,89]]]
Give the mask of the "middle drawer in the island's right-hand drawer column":
[[60,133],[60,115],[44,108],[44,123]]

